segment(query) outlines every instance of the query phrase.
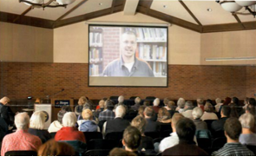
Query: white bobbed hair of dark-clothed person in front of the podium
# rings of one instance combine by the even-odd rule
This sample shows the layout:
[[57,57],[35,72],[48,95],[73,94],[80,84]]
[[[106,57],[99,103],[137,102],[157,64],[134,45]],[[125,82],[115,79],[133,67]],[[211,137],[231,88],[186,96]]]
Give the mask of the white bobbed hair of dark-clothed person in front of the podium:
[[30,118],[30,128],[43,130],[46,121],[46,114],[42,111],[36,111]]

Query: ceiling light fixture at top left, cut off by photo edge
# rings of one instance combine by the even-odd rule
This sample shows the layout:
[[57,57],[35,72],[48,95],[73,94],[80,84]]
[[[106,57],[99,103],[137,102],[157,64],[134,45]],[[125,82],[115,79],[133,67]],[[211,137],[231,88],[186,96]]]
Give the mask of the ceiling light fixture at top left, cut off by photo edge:
[[19,0],[20,3],[25,3],[33,8],[56,8],[67,7],[70,3],[74,3],[75,0]]

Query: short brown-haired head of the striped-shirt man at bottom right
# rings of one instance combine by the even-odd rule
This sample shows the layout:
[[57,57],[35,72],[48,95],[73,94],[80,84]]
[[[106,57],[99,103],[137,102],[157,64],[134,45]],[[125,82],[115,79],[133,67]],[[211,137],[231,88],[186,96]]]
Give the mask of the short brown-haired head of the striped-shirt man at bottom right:
[[236,141],[240,139],[242,133],[242,125],[236,118],[229,118],[226,120],[224,130],[229,138]]

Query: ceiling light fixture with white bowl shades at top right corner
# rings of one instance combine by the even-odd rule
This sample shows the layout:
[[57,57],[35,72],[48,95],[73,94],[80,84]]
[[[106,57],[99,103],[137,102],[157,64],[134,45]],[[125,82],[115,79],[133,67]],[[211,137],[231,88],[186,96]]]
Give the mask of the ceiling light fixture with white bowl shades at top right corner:
[[[222,1],[216,1],[217,3],[220,3],[221,7],[229,12],[232,12],[235,15],[253,15],[254,18],[256,16],[256,1],[230,1],[230,0],[222,0]],[[249,11],[249,13],[242,13],[238,12],[243,7],[245,7],[246,10]]]

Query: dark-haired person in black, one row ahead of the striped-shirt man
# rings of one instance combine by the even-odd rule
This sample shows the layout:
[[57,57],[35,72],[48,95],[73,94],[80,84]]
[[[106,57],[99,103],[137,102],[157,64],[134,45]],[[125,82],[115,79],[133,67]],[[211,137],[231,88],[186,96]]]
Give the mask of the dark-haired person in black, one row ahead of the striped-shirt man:
[[214,132],[218,132],[218,131],[224,131],[224,125],[226,120],[229,118],[229,115],[231,113],[231,108],[229,106],[223,106],[221,108],[221,118],[218,121],[213,121],[212,123],[212,130]]

